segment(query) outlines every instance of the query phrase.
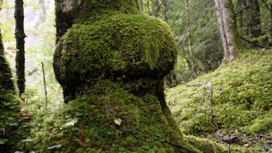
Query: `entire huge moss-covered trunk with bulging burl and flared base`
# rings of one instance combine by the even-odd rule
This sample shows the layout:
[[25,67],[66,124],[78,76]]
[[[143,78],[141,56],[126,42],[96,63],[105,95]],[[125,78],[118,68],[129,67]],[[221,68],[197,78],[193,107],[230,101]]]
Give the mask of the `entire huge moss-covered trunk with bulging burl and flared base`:
[[43,122],[31,146],[44,152],[214,151],[209,141],[184,137],[166,105],[163,79],[177,48],[163,21],[144,16],[137,0],[55,4],[53,66],[67,105],[36,120]]

